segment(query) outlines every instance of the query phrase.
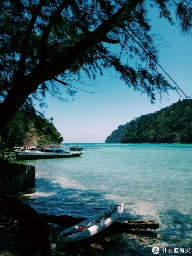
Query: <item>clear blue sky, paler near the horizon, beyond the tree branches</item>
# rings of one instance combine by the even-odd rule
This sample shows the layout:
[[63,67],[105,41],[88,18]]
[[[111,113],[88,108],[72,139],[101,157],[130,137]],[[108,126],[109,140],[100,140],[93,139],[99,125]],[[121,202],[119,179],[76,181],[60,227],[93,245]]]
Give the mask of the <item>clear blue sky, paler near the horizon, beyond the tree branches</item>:
[[[192,38],[181,36],[178,24],[171,26],[167,20],[158,18],[156,9],[150,10],[152,32],[163,36],[166,42],[156,42],[159,50],[159,62],[166,72],[182,88],[185,94],[192,93]],[[116,47],[116,46],[113,46]],[[115,48],[118,51],[118,47]],[[134,64],[134,63],[133,63]],[[44,109],[47,118],[54,117],[54,125],[64,138],[63,143],[105,142],[118,125],[130,122],[134,117],[152,113],[179,100],[175,91],[169,91],[169,100],[163,102],[156,97],[156,103],[151,104],[149,98],[116,77],[112,70],[103,70],[103,76],[97,75],[94,86],[86,86],[73,82],[72,85],[87,91],[78,91],[74,100],[64,95],[68,102],[60,102],[49,95],[46,97],[48,108]],[[164,74],[166,77],[166,75]],[[116,77],[116,78],[114,78]],[[89,83],[88,78],[81,73],[81,80]],[[169,80],[169,79],[168,79]],[[93,81],[91,81],[93,82]]]

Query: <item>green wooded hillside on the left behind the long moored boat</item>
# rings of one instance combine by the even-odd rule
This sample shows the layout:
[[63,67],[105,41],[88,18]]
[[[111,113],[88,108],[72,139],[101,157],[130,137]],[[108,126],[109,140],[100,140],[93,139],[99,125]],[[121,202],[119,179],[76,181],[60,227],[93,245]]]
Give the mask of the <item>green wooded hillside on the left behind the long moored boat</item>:
[[[7,139],[11,124],[2,136],[2,146]],[[13,121],[8,148],[12,146],[40,146],[49,147],[51,144],[60,144],[63,141],[60,132],[53,124],[53,118],[47,119],[35,112],[20,109]]]

